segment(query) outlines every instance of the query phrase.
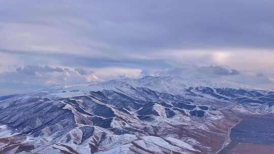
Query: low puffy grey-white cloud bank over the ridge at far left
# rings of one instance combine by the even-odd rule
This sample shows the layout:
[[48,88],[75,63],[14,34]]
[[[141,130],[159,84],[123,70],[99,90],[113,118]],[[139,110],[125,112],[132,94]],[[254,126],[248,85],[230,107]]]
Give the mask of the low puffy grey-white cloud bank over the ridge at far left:
[[27,65],[0,72],[0,84],[25,84],[32,87],[78,84],[87,82],[87,75],[89,74],[80,74],[70,68]]

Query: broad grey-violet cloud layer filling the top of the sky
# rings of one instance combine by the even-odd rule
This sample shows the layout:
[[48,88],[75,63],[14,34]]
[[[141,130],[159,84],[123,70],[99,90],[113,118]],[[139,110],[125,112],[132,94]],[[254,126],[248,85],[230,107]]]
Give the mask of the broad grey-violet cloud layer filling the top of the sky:
[[[0,46],[11,50],[121,56],[174,48],[273,49],[270,0],[0,5],[5,6],[0,10]],[[20,8],[12,9],[15,5]]]

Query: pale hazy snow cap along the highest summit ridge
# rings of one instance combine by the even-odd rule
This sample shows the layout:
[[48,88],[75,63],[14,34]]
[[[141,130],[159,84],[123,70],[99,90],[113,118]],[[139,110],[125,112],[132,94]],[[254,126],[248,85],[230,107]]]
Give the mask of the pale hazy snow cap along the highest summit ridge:
[[211,78],[182,78],[181,76],[145,76],[142,79],[119,79],[108,82],[100,82],[89,86],[75,86],[65,89],[71,91],[78,89],[83,92],[114,90],[134,96],[130,88],[145,87],[158,92],[184,95],[189,87],[212,87],[212,88],[251,88],[246,85],[226,81],[224,79]]

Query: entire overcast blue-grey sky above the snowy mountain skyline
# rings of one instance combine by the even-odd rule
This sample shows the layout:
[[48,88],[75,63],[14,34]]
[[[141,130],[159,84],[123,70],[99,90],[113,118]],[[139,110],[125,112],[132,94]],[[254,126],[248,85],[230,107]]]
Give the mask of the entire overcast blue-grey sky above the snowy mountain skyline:
[[273,6],[0,0],[0,95],[176,71],[271,85]]

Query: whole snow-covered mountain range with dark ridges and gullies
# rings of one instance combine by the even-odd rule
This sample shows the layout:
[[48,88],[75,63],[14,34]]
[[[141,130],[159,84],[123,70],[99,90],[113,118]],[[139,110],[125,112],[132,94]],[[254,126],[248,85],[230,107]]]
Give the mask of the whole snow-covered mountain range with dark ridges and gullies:
[[179,76],[0,97],[0,153],[216,153],[235,112],[273,112],[274,93]]

